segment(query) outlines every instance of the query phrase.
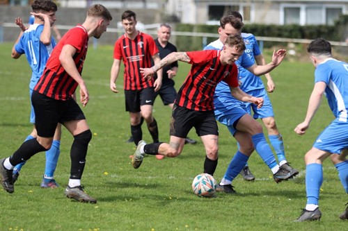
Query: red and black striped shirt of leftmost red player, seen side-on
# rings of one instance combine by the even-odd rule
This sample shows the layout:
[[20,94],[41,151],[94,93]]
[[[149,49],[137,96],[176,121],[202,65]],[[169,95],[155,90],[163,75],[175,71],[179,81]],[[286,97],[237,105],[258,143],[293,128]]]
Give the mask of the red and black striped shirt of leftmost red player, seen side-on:
[[78,85],[59,61],[59,55],[61,55],[63,46],[66,44],[77,49],[77,53],[72,58],[79,74],[81,74],[88,49],[88,33],[83,26],[77,25],[65,33],[53,49],[42,76],[34,88],[40,94],[63,101],[72,97]]

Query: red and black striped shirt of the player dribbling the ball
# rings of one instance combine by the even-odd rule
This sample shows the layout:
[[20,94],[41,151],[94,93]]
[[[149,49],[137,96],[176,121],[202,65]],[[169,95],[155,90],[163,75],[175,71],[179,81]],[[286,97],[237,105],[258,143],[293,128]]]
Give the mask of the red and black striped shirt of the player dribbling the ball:
[[216,85],[225,81],[231,87],[238,87],[237,65],[222,65],[221,51],[191,51],[191,70],[184,84],[177,92],[175,104],[190,110],[214,110],[213,95]]

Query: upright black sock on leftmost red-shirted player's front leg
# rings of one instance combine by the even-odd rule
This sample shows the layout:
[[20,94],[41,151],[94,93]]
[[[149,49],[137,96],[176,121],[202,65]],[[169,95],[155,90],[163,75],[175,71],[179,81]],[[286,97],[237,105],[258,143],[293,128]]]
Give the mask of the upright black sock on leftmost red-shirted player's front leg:
[[70,179],[81,179],[82,173],[84,173],[90,139],[92,139],[92,132],[90,130],[74,135],[74,142],[70,150]]

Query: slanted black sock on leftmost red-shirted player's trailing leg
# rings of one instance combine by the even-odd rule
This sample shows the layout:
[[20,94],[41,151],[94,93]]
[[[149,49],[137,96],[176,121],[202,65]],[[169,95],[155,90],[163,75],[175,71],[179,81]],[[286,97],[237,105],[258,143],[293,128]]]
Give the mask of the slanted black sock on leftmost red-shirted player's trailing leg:
[[28,139],[24,142],[13,155],[10,156],[10,164],[16,166],[26,160],[29,160],[36,153],[47,151],[36,138]]

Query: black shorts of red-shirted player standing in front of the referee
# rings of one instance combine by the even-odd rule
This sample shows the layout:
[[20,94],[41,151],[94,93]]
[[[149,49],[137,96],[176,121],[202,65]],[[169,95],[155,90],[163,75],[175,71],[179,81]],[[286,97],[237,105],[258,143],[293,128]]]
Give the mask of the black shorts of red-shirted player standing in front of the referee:
[[154,87],[148,87],[141,90],[125,90],[126,112],[140,112],[140,106],[153,105],[154,89]]

